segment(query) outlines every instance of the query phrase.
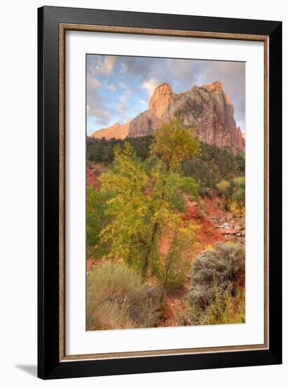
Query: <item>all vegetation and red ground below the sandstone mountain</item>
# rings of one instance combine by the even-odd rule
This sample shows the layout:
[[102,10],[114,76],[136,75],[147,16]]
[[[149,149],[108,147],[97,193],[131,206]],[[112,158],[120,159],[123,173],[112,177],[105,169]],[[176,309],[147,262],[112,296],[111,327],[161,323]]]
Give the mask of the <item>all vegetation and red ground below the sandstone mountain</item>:
[[88,330],[245,321],[245,160],[180,114],[87,138]]

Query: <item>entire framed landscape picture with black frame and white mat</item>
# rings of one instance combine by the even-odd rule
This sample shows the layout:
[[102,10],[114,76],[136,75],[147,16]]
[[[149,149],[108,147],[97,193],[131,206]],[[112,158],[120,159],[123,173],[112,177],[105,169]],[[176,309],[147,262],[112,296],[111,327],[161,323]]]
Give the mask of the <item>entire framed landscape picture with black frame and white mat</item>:
[[281,364],[281,22],[38,20],[39,377]]

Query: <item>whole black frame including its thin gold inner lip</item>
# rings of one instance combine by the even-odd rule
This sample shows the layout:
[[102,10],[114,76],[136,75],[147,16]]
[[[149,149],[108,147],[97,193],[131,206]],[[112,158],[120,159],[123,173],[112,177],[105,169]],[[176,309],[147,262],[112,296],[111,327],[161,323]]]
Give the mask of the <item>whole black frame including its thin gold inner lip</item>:
[[[281,22],[45,6],[38,10],[38,23],[39,378],[281,364]],[[65,353],[65,33],[69,30],[264,42],[263,345]]]

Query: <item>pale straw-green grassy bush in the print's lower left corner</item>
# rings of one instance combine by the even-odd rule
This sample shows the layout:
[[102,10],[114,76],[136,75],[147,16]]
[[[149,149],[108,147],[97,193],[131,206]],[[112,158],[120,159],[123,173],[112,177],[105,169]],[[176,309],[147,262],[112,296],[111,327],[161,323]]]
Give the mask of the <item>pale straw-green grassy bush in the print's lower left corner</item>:
[[155,292],[123,263],[89,269],[88,330],[152,327],[159,316],[160,299]]

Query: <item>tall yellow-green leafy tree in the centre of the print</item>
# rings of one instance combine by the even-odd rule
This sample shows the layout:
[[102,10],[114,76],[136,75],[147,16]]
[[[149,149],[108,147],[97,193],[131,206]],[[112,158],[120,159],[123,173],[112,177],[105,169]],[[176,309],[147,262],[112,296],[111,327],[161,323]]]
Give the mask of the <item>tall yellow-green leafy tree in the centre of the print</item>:
[[[196,194],[194,180],[177,173],[182,159],[194,157],[199,142],[173,119],[154,133],[151,159],[146,164],[128,142],[114,150],[112,168],[100,176],[101,191],[112,194],[107,213],[114,219],[102,230],[111,245],[110,256],[123,260],[143,277],[157,276],[159,237],[165,229],[186,234],[176,208],[182,208],[180,190]],[[150,166],[150,167],[149,167]]]

